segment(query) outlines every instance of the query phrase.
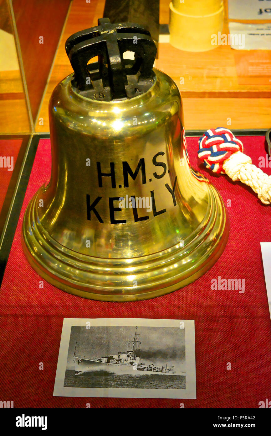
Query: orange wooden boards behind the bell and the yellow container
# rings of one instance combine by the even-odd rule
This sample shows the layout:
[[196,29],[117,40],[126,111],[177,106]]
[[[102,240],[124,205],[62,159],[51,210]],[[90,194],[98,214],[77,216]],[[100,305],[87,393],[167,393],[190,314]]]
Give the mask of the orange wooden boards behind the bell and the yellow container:
[[[72,72],[64,50],[66,38],[75,31],[97,25],[97,18],[103,16],[104,3],[104,0],[92,0],[91,3],[73,1],[40,110],[44,125],[37,124],[37,131],[49,131],[47,108],[51,92],[62,78]],[[169,0],[160,0],[161,24],[169,22],[169,3]],[[225,8],[223,32],[228,34],[227,1]],[[260,51],[260,55],[270,57],[271,52]],[[229,118],[233,129],[270,127],[271,85],[262,84],[261,77],[251,78],[251,83],[241,85],[236,65],[242,56],[244,53],[229,46],[219,46],[204,53],[189,53],[167,43],[159,44],[159,58],[155,66],[170,75],[179,86],[187,129],[227,126]],[[181,77],[184,77],[182,85]]]

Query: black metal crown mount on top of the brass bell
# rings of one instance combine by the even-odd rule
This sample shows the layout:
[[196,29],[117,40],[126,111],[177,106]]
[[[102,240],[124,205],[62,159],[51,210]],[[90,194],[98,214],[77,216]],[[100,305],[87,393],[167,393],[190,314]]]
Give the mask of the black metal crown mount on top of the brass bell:
[[[130,99],[154,83],[157,48],[139,24],[112,24],[100,18],[98,26],[71,35],[65,48],[74,69],[73,87],[91,99]],[[134,60],[124,59],[125,51],[134,52]],[[88,64],[96,56],[98,62]]]

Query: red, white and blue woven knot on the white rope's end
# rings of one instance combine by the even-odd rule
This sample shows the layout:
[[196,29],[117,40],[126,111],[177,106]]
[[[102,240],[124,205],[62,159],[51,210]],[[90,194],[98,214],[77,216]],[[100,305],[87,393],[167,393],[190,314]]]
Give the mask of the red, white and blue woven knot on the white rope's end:
[[231,130],[223,127],[207,130],[199,140],[198,145],[198,157],[206,168],[217,174],[225,174],[223,164],[232,153],[243,152],[241,141],[234,136]]

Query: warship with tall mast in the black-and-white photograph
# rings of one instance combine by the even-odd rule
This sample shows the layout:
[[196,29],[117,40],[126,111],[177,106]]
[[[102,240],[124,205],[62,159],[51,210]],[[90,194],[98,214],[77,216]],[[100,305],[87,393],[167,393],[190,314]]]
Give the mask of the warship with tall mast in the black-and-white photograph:
[[162,366],[155,366],[152,364],[145,364],[141,358],[137,356],[139,334],[137,327],[135,333],[132,335],[132,340],[128,342],[127,351],[118,351],[117,354],[110,354],[107,356],[100,356],[99,358],[87,358],[79,356],[76,352],[77,343],[74,350],[74,367],[75,375],[83,374],[84,372],[105,371],[113,372],[114,374],[155,374],[155,375],[185,375],[185,372],[178,372],[174,370],[174,366],[168,367],[167,364]]

